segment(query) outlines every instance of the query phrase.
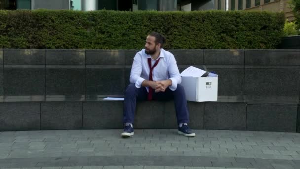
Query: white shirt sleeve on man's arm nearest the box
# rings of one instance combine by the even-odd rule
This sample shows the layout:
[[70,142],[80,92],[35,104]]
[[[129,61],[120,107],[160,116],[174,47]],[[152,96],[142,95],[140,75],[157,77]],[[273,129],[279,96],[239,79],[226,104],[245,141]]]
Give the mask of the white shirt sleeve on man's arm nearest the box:
[[172,55],[169,60],[168,64],[168,72],[170,76],[170,80],[172,81],[172,85],[169,86],[169,88],[174,91],[177,88],[177,84],[181,83],[181,76],[179,74],[179,70],[177,67],[177,63],[175,60],[175,57]]

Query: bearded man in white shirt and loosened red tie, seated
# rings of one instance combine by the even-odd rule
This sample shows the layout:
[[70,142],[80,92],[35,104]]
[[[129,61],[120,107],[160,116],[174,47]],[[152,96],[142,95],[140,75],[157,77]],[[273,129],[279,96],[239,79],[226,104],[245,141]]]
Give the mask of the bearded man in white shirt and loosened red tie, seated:
[[138,100],[174,99],[178,133],[195,136],[188,127],[188,106],[181,76],[172,53],[164,50],[165,38],[152,32],[147,36],[145,49],[136,53],[130,73],[130,83],[125,91],[122,137],[134,134],[133,122]]

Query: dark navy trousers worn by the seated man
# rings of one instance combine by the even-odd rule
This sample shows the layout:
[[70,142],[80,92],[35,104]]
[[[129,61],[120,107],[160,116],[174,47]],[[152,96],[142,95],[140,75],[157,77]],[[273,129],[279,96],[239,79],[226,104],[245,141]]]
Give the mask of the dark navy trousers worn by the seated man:
[[[137,100],[144,101],[147,100],[147,89],[146,87],[137,88],[135,84],[129,84],[125,91],[124,98],[124,112],[123,112],[123,122],[133,123],[134,113],[136,109]],[[169,87],[164,92],[153,91],[153,100],[158,101],[168,101],[174,99],[177,124],[188,123],[188,105],[185,94],[185,89],[182,85],[177,84],[177,89],[172,91]]]

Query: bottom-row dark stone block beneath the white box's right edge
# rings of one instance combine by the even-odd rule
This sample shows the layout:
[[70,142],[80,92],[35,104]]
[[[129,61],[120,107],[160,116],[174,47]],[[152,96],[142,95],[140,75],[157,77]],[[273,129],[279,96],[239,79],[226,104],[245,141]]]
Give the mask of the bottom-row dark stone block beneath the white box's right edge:
[[246,103],[206,102],[204,128],[245,130]]

